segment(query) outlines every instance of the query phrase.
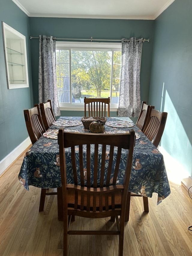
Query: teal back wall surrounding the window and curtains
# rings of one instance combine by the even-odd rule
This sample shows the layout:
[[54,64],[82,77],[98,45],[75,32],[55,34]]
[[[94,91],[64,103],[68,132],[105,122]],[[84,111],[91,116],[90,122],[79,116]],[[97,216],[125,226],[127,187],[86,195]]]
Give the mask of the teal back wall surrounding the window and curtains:
[[[75,18],[37,18],[29,17],[31,36],[52,35],[56,38],[146,38],[150,42],[143,43],[141,59],[141,101],[148,100],[151,70],[151,55],[154,20],[108,20],[108,19],[75,19]],[[39,40],[32,39],[32,79],[34,103],[38,103],[38,51]],[[82,112],[83,113],[83,112]],[[75,116],[82,116],[75,112]],[[71,116],[73,113],[62,111],[61,115]],[[110,116],[117,116],[113,112]]]

